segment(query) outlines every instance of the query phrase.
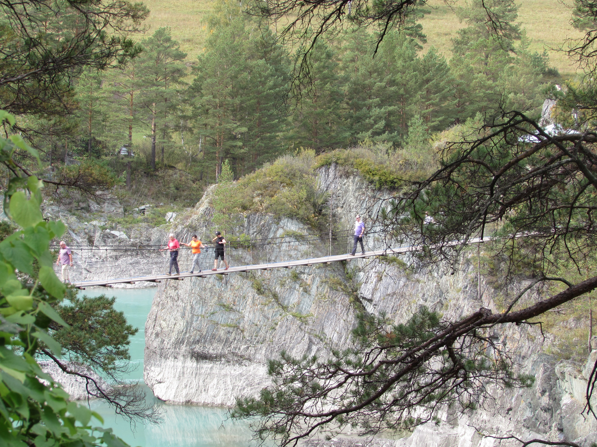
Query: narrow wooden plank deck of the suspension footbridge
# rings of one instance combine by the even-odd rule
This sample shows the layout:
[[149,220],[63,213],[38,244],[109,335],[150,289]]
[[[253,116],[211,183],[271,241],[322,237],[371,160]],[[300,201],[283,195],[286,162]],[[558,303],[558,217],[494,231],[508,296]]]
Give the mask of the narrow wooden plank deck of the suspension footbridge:
[[[485,237],[483,240],[480,238],[471,239],[469,244],[476,244],[479,242],[488,242],[490,241],[490,237]],[[451,246],[457,246],[460,244],[460,241],[454,241],[453,243],[447,244]],[[141,281],[147,281],[150,283],[161,283],[164,280],[174,280],[174,281],[182,281],[184,278],[206,278],[210,275],[228,275],[230,273],[238,273],[238,272],[250,272],[253,270],[271,270],[275,268],[287,268],[291,269],[294,267],[300,266],[310,266],[313,264],[330,264],[332,262],[338,262],[342,260],[353,260],[353,259],[360,259],[360,258],[369,258],[369,257],[376,257],[376,256],[389,256],[393,254],[400,254],[400,253],[408,253],[408,252],[416,252],[421,250],[423,246],[410,246],[410,247],[400,247],[398,249],[385,249],[385,250],[376,250],[372,252],[365,252],[365,254],[356,254],[352,256],[351,254],[336,254],[334,256],[322,256],[322,257],[313,257],[310,259],[300,259],[300,260],[291,260],[287,262],[270,262],[266,264],[253,264],[253,265],[243,265],[238,267],[230,267],[227,270],[217,269],[217,271],[213,270],[204,270],[202,272],[196,273],[181,273],[179,275],[155,275],[155,276],[143,276],[143,277],[132,277],[132,278],[115,278],[113,280],[101,280],[101,281],[81,281],[77,283],[72,283],[77,288],[81,290],[85,290],[85,287],[111,287],[112,284],[135,284],[140,283]]]

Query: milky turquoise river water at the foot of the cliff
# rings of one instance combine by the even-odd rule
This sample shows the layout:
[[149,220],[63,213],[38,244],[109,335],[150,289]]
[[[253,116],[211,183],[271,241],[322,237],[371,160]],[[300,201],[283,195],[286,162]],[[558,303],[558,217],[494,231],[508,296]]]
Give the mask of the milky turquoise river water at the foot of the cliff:
[[[115,296],[114,307],[127,316],[127,320],[139,332],[131,339],[129,353],[131,364],[136,367],[126,377],[143,383],[143,352],[145,349],[145,321],[151,309],[157,288],[106,289],[97,288],[80,291],[87,296]],[[144,386],[144,384],[142,385]],[[137,423],[131,427],[127,420],[116,415],[112,409],[99,400],[90,401],[93,411],[104,418],[104,427],[112,427],[115,434],[131,446],[141,447],[247,447],[251,432],[245,421],[232,421],[227,409],[196,405],[167,405],[154,398],[146,387],[147,395],[155,399],[163,411],[161,424]]]

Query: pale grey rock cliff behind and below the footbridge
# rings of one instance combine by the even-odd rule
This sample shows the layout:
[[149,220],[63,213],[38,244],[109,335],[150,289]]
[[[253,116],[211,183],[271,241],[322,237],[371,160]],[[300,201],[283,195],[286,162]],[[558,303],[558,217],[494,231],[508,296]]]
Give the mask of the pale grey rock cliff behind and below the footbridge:
[[[387,191],[374,191],[357,175],[338,172],[335,166],[321,169],[319,187],[334,193],[333,213],[344,228],[352,226],[355,213],[375,213],[378,198],[387,197]],[[179,237],[194,232],[205,237],[212,215],[208,191],[196,209],[177,222],[174,232]],[[248,215],[236,231],[272,238],[309,229],[290,219]],[[370,237],[366,243],[375,249],[384,241]],[[230,258],[233,265],[253,263],[256,256],[302,259],[325,254],[325,244],[307,249],[297,238],[284,249],[272,246],[267,252],[266,247],[265,255],[263,250],[238,250]],[[211,250],[205,255],[204,268],[213,262],[210,254]],[[269,383],[266,362],[281,350],[294,356],[325,356],[333,347],[346,346],[355,325],[355,302],[369,312],[386,312],[396,321],[409,318],[420,305],[457,319],[482,306],[497,311],[500,291],[482,284],[481,292],[479,296],[476,273],[466,262],[456,275],[441,266],[407,274],[399,263],[362,259],[293,271],[168,281],[159,285],[147,318],[144,378],[164,401],[232,405],[236,395],[256,393]],[[516,445],[484,438],[476,429],[525,439],[576,440],[586,447],[597,442],[596,421],[580,415],[587,367],[583,370],[583,365],[544,353],[550,340],[544,340],[537,327],[502,325],[494,337],[516,354],[521,370],[536,376],[531,389],[500,391],[497,403],[470,415],[446,409],[444,423],[419,427],[404,439],[313,439],[308,445]]]

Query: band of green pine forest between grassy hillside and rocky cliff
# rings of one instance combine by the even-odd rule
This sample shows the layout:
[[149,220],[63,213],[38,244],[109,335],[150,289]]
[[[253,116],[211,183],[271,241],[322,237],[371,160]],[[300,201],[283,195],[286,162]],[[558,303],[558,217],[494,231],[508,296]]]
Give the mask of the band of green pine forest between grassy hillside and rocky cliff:
[[[191,204],[197,188],[217,182],[224,160],[238,179],[301,148],[322,154],[365,143],[416,156],[433,134],[478,115],[540,112],[562,79],[546,51],[530,51],[517,8],[506,2],[496,10],[509,29],[496,36],[481,2],[460,5],[454,13],[466,26],[451,38],[449,59],[423,51],[424,29],[414,19],[379,45],[370,30],[342,30],[309,49],[304,73],[301,48],[240,4],[221,1],[205,18],[196,60],[168,27],[140,35],[140,25],[126,63],[83,67],[53,101],[20,104],[5,86],[0,108],[16,114],[47,178],[87,175],[96,179],[91,189],[118,185],[137,197],[153,178],[162,193],[170,189],[164,201]],[[420,8],[417,17],[429,12]]]

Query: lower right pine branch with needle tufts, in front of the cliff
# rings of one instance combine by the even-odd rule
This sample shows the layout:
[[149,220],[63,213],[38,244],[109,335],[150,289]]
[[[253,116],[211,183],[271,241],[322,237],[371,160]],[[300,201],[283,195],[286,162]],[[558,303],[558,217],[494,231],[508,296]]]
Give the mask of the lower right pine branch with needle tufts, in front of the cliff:
[[274,384],[259,398],[238,398],[233,417],[261,417],[257,437],[280,445],[318,430],[351,425],[361,434],[407,430],[436,419],[443,405],[464,411],[493,401],[486,381],[498,387],[525,387],[509,353],[485,334],[496,324],[523,324],[562,303],[597,288],[597,277],[516,312],[479,309],[460,321],[442,322],[426,309],[406,324],[362,315],[353,333],[355,347],[330,359],[295,359],[282,353],[270,362]]

